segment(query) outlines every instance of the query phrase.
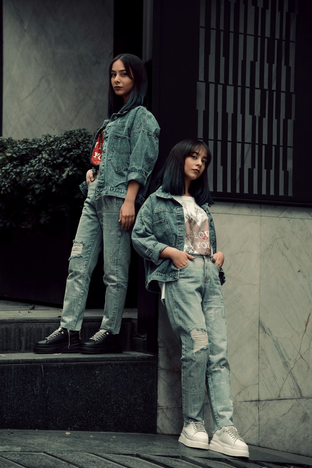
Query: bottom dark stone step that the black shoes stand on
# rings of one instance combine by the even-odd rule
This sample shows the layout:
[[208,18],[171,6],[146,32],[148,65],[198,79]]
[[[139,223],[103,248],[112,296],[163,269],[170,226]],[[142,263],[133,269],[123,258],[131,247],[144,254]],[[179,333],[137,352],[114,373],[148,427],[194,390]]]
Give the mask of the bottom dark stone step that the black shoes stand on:
[[0,357],[0,427],[156,432],[157,358],[138,352]]

